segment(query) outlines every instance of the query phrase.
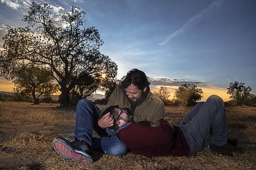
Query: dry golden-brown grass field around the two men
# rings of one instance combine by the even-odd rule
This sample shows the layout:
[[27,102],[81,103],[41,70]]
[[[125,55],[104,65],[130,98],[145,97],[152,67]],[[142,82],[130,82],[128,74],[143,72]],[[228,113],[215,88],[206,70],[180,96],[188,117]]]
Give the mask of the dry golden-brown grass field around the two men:
[[[191,108],[166,106],[165,117],[177,125]],[[238,140],[243,154],[230,157],[205,149],[196,157],[147,158],[131,152],[124,157],[93,152],[89,166],[64,159],[52,148],[55,136],[74,138],[75,109],[0,102],[0,169],[256,169],[256,108],[226,108],[229,138]]]

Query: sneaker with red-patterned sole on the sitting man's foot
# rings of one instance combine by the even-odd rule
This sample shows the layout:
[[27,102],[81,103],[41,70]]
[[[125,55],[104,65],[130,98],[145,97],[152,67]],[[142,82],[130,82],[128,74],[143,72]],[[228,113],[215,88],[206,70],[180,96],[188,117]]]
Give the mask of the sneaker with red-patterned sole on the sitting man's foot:
[[90,145],[84,140],[68,141],[62,137],[53,139],[53,148],[64,158],[73,159],[82,165],[93,163],[91,155],[93,154]]

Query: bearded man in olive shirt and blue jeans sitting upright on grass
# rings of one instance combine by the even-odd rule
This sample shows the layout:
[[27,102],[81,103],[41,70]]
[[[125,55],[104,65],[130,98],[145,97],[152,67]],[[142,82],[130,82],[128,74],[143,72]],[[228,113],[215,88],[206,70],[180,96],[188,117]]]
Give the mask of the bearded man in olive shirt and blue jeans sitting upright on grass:
[[[158,120],[164,117],[164,105],[150,92],[149,85],[144,72],[130,70],[109,97],[106,108],[111,105],[129,108],[135,122],[147,123],[152,127],[159,126]],[[62,137],[56,137],[53,147],[64,158],[73,159],[82,165],[93,162],[91,150],[114,156],[125,155],[127,147],[116,131],[109,128],[113,125],[113,115],[107,113],[101,116],[101,110],[97,106],[82,99],[76,110],[75,140],[69,142]],[[92,138],[93,130],[101,138]]]

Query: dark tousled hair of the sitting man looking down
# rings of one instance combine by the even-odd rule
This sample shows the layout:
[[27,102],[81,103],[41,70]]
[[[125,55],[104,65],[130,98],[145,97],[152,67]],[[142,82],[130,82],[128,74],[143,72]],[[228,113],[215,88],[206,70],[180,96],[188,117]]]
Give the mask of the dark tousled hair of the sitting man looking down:
[[138,69],[132,69],[127,72],[125,79],[121,82],[123,88],[127,88],[129,85],[135,85],[140,90],[149,87],[150,84],[151,82],[148,81],[146,74]]

